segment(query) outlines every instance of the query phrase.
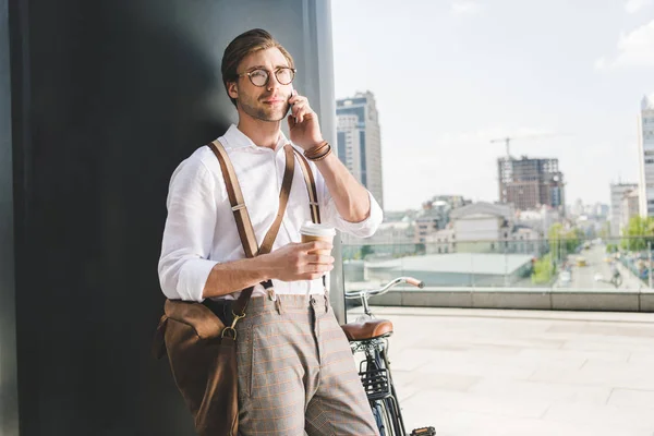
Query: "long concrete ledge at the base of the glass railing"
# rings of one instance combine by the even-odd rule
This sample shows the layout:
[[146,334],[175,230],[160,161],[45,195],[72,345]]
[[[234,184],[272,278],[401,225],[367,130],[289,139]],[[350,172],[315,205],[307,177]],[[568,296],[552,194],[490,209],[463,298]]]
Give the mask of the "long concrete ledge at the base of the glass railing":
[[654,312],[654,292],[511,288],[399,289],[371,299],[377,306]]

